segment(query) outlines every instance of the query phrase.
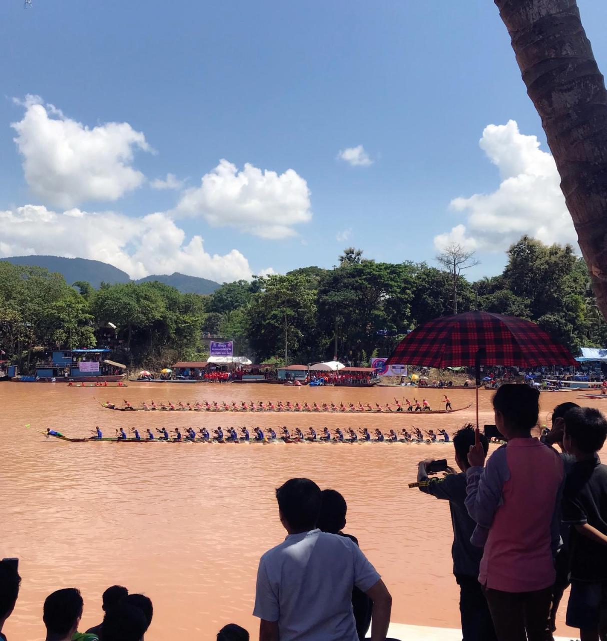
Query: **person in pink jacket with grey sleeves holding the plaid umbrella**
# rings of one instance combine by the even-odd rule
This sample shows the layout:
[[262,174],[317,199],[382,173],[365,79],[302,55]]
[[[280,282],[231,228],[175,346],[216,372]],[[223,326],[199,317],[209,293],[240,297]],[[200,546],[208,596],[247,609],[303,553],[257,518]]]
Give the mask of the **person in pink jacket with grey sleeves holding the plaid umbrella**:
[[528,385],[502,385],[493,408],[507,444],[487,465],[482,445],[468,454],[465,506],[471,541],[484,545],[478,580],[499,641],[543,641],[550,616],[565,474],[558,453],[531,436],[538,401]]

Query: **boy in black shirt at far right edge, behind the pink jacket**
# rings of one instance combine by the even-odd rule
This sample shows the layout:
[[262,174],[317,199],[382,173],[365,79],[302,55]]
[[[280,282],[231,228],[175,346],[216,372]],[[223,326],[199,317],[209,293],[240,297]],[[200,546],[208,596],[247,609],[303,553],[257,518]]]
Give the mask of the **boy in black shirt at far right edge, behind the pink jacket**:
[[599,410],[565,414],[563,447],[576,458],[563,492],[563,522],[571,524],[567,625],[579,628],[581,641],[607,634],[607,465],[597,455],[606,438]]

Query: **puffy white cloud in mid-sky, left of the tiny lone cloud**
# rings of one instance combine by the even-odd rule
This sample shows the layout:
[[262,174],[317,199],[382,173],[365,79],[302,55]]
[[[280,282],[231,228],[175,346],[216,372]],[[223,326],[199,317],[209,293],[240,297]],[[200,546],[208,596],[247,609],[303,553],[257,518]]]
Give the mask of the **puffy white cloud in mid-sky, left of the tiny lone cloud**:
[[184,192],[174,212],[200,216],[213,227],[232,227],[262,238],[286,238],[312,219],[310,190],[293,169],[242,171],[227,160],[202,176],[200,187]]

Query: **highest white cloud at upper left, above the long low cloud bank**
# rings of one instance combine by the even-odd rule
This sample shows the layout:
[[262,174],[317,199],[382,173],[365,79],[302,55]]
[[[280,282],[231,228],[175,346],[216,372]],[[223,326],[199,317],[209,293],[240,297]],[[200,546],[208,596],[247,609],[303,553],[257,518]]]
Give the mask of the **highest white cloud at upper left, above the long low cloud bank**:
[[62,208],[85,201],[115,201],[145,177],[133,169],[134,149],[153,149],[127,122],[92,129],[74,121],[39,96],[22,102],[23,119],[13,122],[26,181],[45,203]]

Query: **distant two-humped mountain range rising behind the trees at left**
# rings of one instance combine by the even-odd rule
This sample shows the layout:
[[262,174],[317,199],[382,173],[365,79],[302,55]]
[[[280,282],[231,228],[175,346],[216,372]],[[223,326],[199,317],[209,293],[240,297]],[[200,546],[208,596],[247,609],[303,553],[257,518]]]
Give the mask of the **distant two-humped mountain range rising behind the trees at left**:
[[[49,272],[59,272],[63,274],[65,281],[72,285],[76,281],[88,281],[93,287],[99,288],[102,282],[111,283],[129,283],[131,279],[127,272],[122,269],[102,263],[99,260],[88,260],[88,258],[61,258],[61,256],[13,256],[12,258],[0,258],[13,265],[35,265],[36,267],[45,267]],[[219,283],[207,278],[198,278],[197,276],[186,276],[175,272],[170,274],[152,274],[134,281],[135,283],[144,283],[146,281],[159,281],[172,285],[182,294],[213,294],[220,287]]]

